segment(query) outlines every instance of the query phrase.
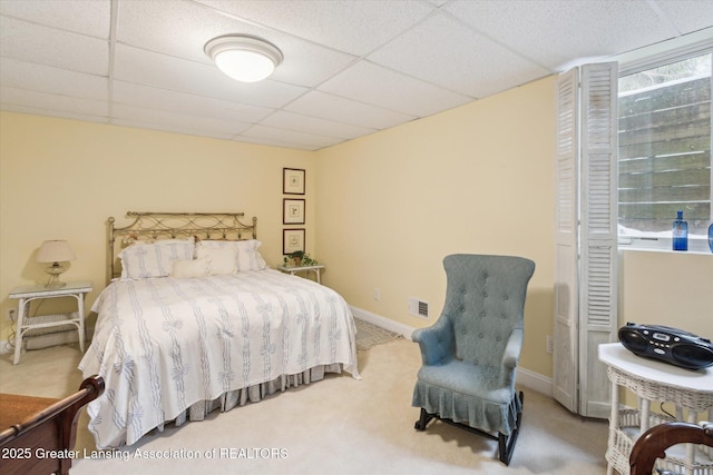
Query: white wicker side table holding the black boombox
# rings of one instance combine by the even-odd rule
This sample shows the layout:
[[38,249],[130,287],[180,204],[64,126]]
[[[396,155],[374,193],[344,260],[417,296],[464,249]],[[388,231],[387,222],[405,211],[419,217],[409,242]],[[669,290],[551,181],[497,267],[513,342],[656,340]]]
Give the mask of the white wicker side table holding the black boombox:
[[[696,424],[701,413],[705,414],[704,419],[713,420],[713,368],[692,372],[642,358],[619,343],[599,345],[599,360],[607,365],[612,382],[607,475],[615,469],[628,475],[628,457],[638,436],[652,425],[673,419],[652,413],[653,400],[673,403],[676,420]],[[638,396],[638,408],[619,406],[619,387],[626,387]],[[696,448],[686,444],[685,453],[677,453],[672,447],[656,466],[687,475],[713,475],[712,456],[709,447]]]

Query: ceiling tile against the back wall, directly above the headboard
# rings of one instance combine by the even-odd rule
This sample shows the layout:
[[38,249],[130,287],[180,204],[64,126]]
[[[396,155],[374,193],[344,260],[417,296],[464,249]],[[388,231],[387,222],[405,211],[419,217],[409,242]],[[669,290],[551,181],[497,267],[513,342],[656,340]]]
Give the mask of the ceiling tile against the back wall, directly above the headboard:
[[115,105],[111,113],[111,123],[222,139],[229,139],[250,127],[248,123],[238,121],[208,119],[125,105]]

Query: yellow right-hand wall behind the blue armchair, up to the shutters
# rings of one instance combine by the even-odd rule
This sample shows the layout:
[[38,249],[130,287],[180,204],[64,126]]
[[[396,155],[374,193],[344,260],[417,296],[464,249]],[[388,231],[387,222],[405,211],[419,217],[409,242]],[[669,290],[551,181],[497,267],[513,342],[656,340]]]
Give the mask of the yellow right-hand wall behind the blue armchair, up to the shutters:
[[[554,107],[548,78],[320,151],[325,281],[355,307],[422,327],[443,304],[446,255],[528,257],[522,365],[551,376]],[[430,304],[429,320],[408,314],[409,297]]]

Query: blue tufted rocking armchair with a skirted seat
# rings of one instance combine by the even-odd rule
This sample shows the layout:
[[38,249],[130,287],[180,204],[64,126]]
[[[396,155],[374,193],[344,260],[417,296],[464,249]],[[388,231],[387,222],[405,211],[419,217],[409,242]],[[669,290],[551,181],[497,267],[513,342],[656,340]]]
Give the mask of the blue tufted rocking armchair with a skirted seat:
[[412,336],[423,362],[411,404],[421,408],[416,428],[424,431],[438,418],[498,441],[499,458],[509,465],[522,415],[515,374],[535,263],[457,254],[447,256],[443,267],[443,311]]

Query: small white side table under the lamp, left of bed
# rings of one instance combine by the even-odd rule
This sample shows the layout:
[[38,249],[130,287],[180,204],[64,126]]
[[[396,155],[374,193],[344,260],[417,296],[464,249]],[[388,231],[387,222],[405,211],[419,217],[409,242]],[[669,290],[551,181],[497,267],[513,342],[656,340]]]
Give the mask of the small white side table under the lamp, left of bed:
[[[13,364],[20,363],[22,352],[22,337],[33,328],[51,328],[64,325],[75,325],[79,331],[79,348],[85,350],[85,296],[92,290],[88,280],[67,283],[65,287],[48,288],[42,285],[31,285],[14,288],[9,297],[17,298],[18,301],[18,328],[14,335],[14,359]],[[30,303],[37,299],[74,297],[77,299],[77,316],[67,315],[67,318],[58,318],[55,321],[32,321],[39,317],[29,317]]]

